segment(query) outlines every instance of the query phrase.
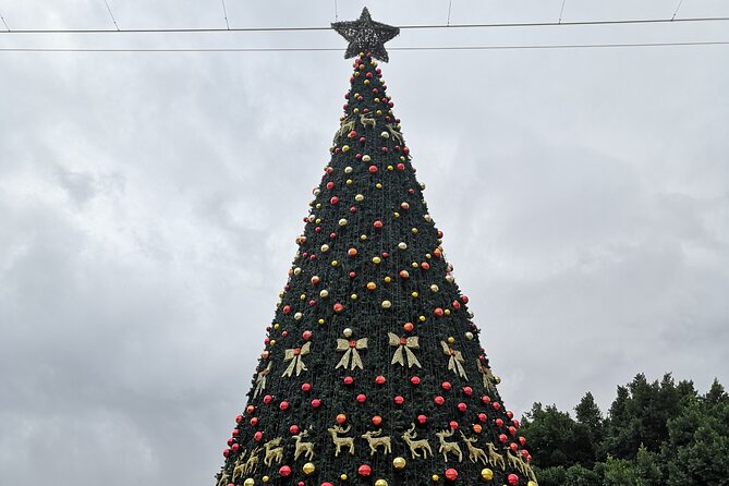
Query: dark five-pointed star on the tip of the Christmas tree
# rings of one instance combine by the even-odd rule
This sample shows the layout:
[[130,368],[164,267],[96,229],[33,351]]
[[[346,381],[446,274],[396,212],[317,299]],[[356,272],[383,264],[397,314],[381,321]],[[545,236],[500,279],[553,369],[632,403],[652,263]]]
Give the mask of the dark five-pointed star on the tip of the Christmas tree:
[[373,58],[385,62],[390,60],[385,50],[385,42],[400,34],[398,27],[373,21],[366,7],[362,9],[362,14],[356,21],[335,22],[331,28],[350,42],[344,59],[359,56],[360,52],[369,52]]

